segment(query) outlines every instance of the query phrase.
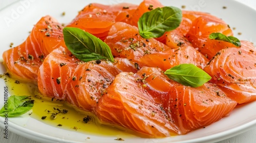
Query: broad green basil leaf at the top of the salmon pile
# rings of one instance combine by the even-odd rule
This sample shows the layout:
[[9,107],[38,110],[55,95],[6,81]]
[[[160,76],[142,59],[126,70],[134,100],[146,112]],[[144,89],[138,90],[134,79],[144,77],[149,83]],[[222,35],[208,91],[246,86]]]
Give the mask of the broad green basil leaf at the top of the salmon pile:
[[139,34],[143,38],[161,37],[166,31],[179,27],[182,12],[176,7],[156,8],[145,12],[138,21]]

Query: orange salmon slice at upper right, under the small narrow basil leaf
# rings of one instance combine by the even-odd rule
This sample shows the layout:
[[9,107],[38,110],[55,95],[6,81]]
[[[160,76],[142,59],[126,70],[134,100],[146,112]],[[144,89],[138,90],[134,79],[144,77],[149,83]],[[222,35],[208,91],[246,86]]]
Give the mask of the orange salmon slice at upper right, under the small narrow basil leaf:
[[[221,46],[220,48],[216,45],[212,46],[212,43],[208,43],[212,42],[212,40],[208,38],[209,35],[217,32],[226,36],[233,35],[229,26],[220,18],[212,15],[202,15],[193,21],[186,37],[193,44],[193,47],[208,57],[208,59],[211,59],[220,49],[229,46],[229,44],[227,46],[218,44],[218,46]],[[218,48],[214,49],[215,47]]]

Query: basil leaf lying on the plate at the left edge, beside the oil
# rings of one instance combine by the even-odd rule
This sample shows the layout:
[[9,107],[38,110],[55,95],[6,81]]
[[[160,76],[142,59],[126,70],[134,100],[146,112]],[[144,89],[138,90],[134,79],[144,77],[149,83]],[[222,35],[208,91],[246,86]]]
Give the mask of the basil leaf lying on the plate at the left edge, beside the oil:
[[7,104],[0,110],[0,116],[8,117],[22,115],[34,106],[34,100],[31,100],[28,96],[10,96]]

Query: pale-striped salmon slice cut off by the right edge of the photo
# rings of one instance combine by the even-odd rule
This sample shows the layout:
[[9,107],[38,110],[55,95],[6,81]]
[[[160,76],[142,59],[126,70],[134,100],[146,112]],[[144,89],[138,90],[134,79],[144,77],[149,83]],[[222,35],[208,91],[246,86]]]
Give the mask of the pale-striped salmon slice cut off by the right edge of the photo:
[[212,77],[210,82],[239,104],[256,100],[256,55],[253,44],[249,43],[242,42],[241,48],[228,47],[219,51],[204,68]]

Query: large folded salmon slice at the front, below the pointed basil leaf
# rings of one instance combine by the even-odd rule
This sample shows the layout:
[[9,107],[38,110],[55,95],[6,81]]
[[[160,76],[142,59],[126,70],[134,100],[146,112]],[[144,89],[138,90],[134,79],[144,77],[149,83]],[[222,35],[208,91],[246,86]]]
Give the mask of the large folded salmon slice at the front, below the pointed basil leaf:
[[214,123],[236,104],[213,84],[183,86],[169,80],[159,68],[144,66],[136,74],[116,76],[99,99],[96,115],[103,124],[167,137]]

